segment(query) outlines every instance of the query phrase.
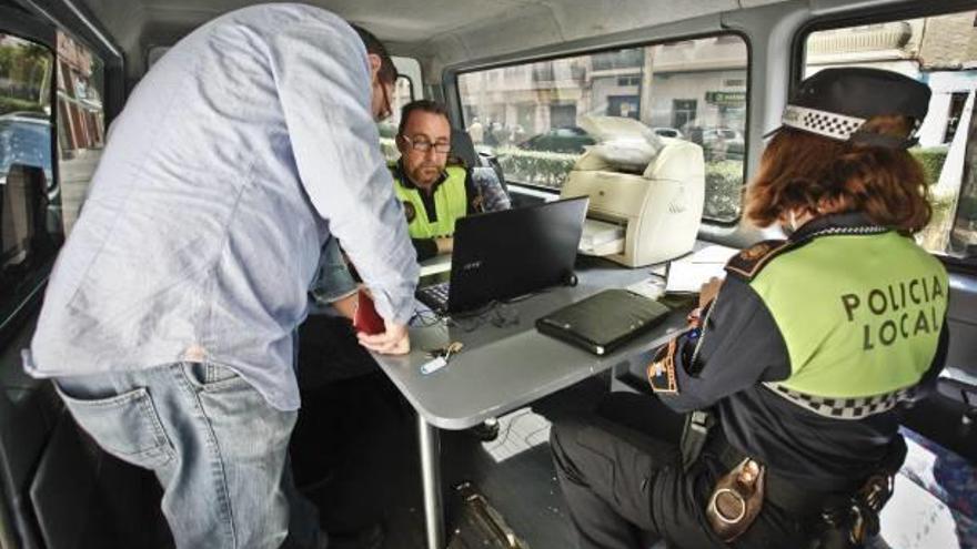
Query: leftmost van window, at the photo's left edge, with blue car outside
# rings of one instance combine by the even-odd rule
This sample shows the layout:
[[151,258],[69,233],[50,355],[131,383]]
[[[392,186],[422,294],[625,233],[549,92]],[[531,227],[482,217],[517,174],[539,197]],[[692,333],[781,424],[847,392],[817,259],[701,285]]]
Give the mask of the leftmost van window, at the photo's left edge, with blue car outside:
[[0,33],[0,317],[37,286],[63,235],[51,171],[54,54]]

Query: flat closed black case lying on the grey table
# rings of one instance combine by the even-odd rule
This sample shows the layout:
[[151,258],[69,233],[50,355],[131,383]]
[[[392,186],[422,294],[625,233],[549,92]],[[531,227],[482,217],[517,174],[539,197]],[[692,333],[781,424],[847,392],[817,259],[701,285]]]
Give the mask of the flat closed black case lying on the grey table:
[[658,324],[669,311],[627,289],[605,289],[540,318],[536,329],[604,355]]

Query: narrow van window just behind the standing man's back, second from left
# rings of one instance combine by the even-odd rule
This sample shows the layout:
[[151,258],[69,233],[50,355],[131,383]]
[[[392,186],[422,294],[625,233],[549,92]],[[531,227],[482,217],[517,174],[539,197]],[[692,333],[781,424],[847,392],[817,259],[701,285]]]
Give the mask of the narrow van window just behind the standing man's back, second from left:
[[105,143],[104,63],[58,31],[58,172],[64,234],[71,233]]

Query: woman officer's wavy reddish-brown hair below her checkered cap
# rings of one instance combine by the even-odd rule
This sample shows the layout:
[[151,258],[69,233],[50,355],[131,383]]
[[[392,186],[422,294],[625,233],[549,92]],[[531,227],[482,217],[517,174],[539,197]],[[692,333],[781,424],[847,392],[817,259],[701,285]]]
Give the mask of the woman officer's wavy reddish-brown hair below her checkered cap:
[[[875,116],[859,132],[905,138],[910,119]],[[759,226],[792,210],[812,215],[863,212],[905,233],[933,213],[923,166],[904,149],[835,141],[790,128],[777,132],[747,192],[746,216]]]

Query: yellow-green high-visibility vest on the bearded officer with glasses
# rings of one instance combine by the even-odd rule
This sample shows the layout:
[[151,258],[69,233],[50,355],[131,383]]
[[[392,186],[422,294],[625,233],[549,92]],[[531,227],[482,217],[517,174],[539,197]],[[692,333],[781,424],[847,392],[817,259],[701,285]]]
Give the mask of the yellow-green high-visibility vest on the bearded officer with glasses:
[[434,191],[434,206],[437,212],[437,221],[427,218],[424,210],[424,201],[421,191],[415,187],[406,187],[397,177],[397,171],[393,171],[394,191],[397,200],[403,203],[407,216],[407,230],[412,238],[433,238],[435,236],[449,236],[454,234],[454,222],[464,217],[467,212],[467,193],[465,192],[466,171],[460,166],[445,167],[446,177]]

